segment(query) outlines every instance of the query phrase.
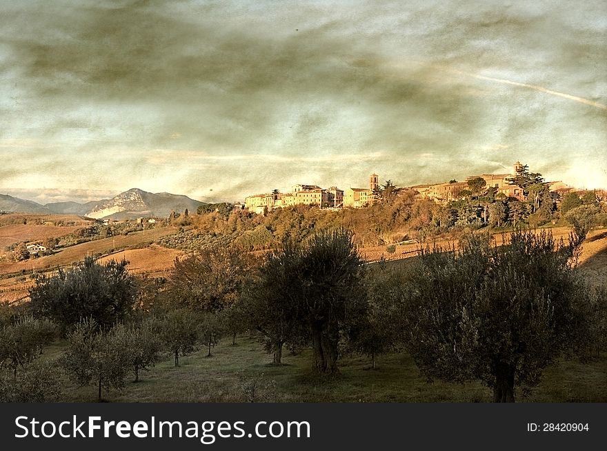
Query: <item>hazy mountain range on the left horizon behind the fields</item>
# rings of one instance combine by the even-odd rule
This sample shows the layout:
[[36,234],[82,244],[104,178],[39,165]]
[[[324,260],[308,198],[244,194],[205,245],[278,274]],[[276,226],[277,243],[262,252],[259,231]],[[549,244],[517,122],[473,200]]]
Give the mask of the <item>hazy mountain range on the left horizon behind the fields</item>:
[[0,194],[0,210],[19,213],[79,214],[94,219],[135,219],[142,216],[166,217],[171,211],[195,212],[204,202],[168,192],[152,193],[132,188],[112,199],[86,203],[54,202],[41,205],[33,201]]

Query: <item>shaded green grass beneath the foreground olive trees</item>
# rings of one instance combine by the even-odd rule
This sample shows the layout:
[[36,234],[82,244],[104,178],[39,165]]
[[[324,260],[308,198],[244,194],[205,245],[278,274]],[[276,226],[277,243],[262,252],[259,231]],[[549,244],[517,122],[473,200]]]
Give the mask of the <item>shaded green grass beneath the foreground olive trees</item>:
[[[61,355],[65,342],[46,349],[44,359]],[[492,392],[481,383],[427,381],[405,353],[377,359],[377,369],[358,355],[340,359],[341,374],[330,379],[312,375],[310,352],[285,352],[284,364],[271,365],[271,356],[249,337],[239,337],[179,359],[157,363],[141,372],[139,383],[123,390],[103,391],[109,402],[490,402]],[[97,401],[97,388],[79,388],[65,379],[61,401]],[[607,356],[590,363],[558,361],[544,372],[536,388],[517,388],[517,402],[607,402]]]

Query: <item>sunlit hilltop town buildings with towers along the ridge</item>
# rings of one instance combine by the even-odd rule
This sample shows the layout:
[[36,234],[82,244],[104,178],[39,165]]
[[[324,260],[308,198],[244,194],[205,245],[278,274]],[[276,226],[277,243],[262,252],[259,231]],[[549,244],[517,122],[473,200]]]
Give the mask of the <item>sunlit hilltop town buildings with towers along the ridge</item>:
[[[513,174],[480,174],[470,176],[466,181],[461,182],[451,181],[432,185],[417,185],[409,188],[419,192],[424,199],[445,203],[461,199],[462,193],[470,189],[468,181],[481,178],[486,183],[485,188],[495,188],[496,194],[502,193],[508,199],[526,201],[523,188],[513,183],[515,177],[523,172],[524,166],[517,161],[513,169]],[[268,194],[255,194],[246,197],[245,208],[257,213],[263,213],[273,208],[296,205],[319,206],[321,208],[360,208],[377,200],[378,187],[377,174],[369,176],[368,188],[340,190],[336,186],[324,189],[316,185],[295,185],[292,192],[288,193],[275,190]],[[549,182],[548,188],[551,192],[568,192],[573,189],[561,181]]]

